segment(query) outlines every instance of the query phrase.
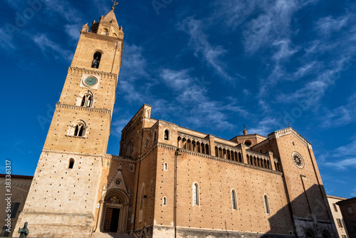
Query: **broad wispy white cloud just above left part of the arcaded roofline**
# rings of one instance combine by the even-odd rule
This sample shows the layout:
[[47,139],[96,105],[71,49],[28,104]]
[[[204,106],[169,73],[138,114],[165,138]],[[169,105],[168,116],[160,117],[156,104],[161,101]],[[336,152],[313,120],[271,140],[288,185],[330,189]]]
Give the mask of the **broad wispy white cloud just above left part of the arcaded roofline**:
[[183,120],[186,120],[190,125],[197,127],[215,126],[225,130],[234,126],[229,123],[230,114],[249,115],[243,107],[237,106],[236,101],[231,98],[229,104],[211,100],[206,95],[207,89],[202,87],[199,80],[190,76],[189,73],[189,69],[181,71],[162,70],[160,77],[174,93],[175,100],[170,103],[161,101],[158,105],[160,108],[157,108],[157,110],[164,111],[167,117],[169,115],[172,117],[184,115]]

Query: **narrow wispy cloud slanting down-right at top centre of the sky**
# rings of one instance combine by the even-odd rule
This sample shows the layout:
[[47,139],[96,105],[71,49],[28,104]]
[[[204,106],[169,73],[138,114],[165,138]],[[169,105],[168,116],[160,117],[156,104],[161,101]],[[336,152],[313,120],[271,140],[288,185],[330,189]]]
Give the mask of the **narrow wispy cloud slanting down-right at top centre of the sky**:
[[229,73],[226,72],[224,63],[219,60],[219,58],[226,53],[226,50],[222,46],[212,46],[211,43],[209,43],[202,29],[202,21],[188,17],[184,19],[179,26],[183,31],[189,34],[189,45],[194,48],[195,56],[201,56],[208,66],[214,68],[216,73],[222,78],[233,80],[233,78],[229,76]]

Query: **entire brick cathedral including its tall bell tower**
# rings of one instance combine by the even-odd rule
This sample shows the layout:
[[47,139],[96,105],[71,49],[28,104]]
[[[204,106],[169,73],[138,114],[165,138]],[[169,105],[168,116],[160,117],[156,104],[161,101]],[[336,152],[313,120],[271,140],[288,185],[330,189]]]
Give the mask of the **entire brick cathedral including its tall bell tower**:
[[[30,237],[337,237],[308,140],[231,140],[142,107],[106,153],[124,33],[115,6],[85,24],[15,231]],[[16,232],[14,232],[16,233]],[[19,234],[15,236],[19,237]]]

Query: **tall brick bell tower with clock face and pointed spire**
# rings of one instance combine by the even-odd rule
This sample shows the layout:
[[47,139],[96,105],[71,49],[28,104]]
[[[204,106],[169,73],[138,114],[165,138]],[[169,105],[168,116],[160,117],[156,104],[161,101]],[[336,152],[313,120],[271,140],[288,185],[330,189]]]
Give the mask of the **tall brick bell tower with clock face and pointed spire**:
[[114,8],[80,31],[15,231],[24,222],[31,237],[90,237],[93,231],[122,61],[124,33]]

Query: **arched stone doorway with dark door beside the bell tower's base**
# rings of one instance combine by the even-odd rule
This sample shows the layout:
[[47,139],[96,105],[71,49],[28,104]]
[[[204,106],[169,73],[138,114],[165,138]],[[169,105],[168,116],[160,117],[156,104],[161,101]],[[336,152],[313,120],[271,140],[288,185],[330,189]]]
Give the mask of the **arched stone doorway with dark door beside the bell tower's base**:
[[127,225],[128,197],[121,190],[109,190],[103,200],[100,230],[125,232]]

